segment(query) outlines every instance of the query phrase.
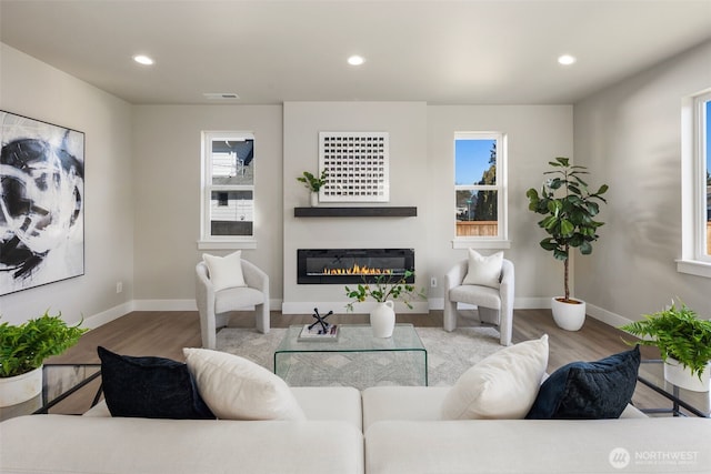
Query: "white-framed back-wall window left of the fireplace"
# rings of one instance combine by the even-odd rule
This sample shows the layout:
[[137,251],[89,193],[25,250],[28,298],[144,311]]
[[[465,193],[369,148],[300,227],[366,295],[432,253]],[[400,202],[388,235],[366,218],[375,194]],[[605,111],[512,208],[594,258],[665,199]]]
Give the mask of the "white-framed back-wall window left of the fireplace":
[[202,243],[253,242],[254,137],[203,132],[202,148]]

